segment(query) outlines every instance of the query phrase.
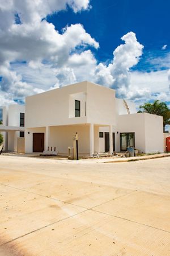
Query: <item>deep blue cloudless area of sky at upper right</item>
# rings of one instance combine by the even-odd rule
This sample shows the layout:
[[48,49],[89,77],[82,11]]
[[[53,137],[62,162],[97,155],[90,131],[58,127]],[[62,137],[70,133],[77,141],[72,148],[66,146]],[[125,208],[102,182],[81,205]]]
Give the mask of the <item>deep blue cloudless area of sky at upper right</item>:
[[[170,1],[150,0],[92,0],[90,11],[73,13],[71,9],[49,15],[47,20],[61,31],[66,24],[82,23],[86,31],[100,43],[95,52],[99,61],[112,59],[113,49],[129,31],[145,46],[144,56],[136,69],[150,71],[147,57],[164,56],[170,45]],[[167,44],[165,51],[162,47]],[[144,66],[144,67],[143,67]],[[150,67],[151,66],[151,67]]]

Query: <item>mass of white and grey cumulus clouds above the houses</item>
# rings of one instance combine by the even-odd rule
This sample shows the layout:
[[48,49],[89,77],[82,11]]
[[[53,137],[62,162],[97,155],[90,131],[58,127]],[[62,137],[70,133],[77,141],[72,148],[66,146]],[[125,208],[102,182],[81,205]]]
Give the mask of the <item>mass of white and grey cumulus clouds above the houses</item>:
[[[71,24],[60,32],[46,20],[68,7],[74,13],[90,10],[90,0],[0,1],[0,105],[83,80],[116,89],[118,97],[138,104],[168,101],[170,71],[131,71],[143,53],[134,32],[122,36],[108,64],[99,63],[93,53],[99,43],[82,24]],[[167,69],[169,56],[150,63]]]

